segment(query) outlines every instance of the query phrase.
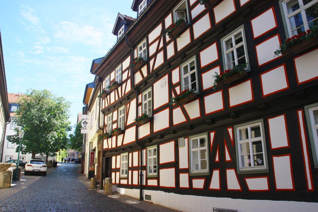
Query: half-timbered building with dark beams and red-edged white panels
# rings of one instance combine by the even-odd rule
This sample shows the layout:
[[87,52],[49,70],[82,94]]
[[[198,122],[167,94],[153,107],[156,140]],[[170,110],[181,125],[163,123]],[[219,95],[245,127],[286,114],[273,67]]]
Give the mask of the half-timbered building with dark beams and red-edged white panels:
[[[118,14],[117,43],[91,70],[104,133],[121,128],[102,140],[102,179],[182,211],[315,211],[318,46],[274,51],[317,24],[318,0],[206,2],[134,0],[136,19]],[[240,64],[244,76],[213,86]]]

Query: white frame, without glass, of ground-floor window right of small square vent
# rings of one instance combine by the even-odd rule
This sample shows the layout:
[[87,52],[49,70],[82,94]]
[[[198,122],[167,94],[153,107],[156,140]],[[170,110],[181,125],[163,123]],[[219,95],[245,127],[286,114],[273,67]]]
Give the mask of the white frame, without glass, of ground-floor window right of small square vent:
[[[205,138],[205,147],[198,147],[198,148],[192,148],[192,140],[194,139],[198,139],[198,141],[201,139],[201,138]],[[199,134],[199,135],[194,135],[194,136],[190,136],[189,137],[189,165],[190,165],[190,175],[193,175],[193,174],[209,174],[210,172],[210,165],[209,165],[209,141],[208,141],[208,135],[207,133],[203,133],[203,134]],[[200,153],[200,150],[206,150],[206,163],[207,163],[207,169],[201,169],[201,155],[199,154]],[[192,153],[194,151],[198,151],[198,161],[199,161],[199,170],[193,170],[192,169],[192,158],[193,158],[193,155]],[[204,160],[204,159],[203,159]]]

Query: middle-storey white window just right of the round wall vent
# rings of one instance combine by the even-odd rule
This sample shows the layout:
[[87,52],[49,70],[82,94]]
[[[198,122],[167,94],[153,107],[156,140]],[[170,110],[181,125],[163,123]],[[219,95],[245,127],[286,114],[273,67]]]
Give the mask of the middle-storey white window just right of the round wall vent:
[[182,76],[182,90],[193,89],[197,90],[197,64],[195,57],[190,59],[188,62],[181,65],[181,76]]

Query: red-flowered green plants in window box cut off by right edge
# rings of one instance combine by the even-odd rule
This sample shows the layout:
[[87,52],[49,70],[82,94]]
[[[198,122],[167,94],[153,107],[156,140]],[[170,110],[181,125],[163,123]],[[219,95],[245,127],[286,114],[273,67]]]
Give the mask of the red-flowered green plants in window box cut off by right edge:
[[310,30],[306,32],[294,35],[291,38],[287,38],[282,44],[279,45],[279,49],[274,53],[276,56],[282,54],[284,57],[288,55],[298,54],[312,46],[318,44],[318,26],[312,25]]

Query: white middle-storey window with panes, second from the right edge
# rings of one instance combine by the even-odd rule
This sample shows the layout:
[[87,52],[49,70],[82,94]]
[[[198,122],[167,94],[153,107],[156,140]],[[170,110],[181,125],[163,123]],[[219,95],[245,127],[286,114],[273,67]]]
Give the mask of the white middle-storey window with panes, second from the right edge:
[[232,69],[235,65],[248,63],[243,26],[221,40],[224,67]]

